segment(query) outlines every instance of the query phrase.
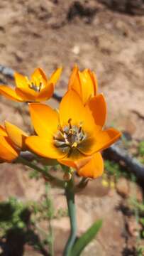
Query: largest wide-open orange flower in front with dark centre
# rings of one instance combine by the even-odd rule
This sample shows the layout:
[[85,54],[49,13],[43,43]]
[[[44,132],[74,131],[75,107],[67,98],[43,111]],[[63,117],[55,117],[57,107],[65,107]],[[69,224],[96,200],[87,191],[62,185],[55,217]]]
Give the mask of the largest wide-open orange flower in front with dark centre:
[[[88,156],[94,159],[93,162],[100,159],[98,152],[121,136],[113,128],[102,131],[106,118],[103,95],[93,97],[84,107],[77,92],[69,90],[60,102],[59,114],[40,103],[31,103],[30,111],[38,136],[26,138],[26,145],[36,154],[63,161],[68,166],[79,160],[87,161]],[[97,154],[95,158],[94,154]],[[90,173],[85,175],[92,176]]]

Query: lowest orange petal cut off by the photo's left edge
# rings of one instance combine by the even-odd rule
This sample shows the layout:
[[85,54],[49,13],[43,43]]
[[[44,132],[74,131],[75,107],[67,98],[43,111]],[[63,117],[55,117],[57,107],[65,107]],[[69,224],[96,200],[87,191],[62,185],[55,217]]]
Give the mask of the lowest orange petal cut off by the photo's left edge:
[[6,129],[0,125],[0,162],[11,162],[17,157],[18,150],[11,143]]

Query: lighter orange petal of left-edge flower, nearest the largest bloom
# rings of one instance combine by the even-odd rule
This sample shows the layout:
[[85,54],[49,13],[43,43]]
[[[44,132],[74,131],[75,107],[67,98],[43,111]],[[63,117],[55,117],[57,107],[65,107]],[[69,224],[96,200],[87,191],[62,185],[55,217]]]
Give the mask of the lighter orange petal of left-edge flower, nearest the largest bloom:
[[5,122],[5,127],[9,139],[11,139],[11,142],[18,146],[18,148],[26,150],[25,139],[26,137],[28,137],[26,132],[23,132],[23,130],[19,129],[18,127],[9,122]]

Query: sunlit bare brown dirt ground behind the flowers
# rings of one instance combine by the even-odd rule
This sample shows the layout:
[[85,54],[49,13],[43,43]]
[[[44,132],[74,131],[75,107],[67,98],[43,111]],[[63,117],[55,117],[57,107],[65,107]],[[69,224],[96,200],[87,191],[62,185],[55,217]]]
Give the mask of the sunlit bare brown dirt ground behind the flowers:
[[[52,73],[63,66],[56,91],[62,95],[74,63],[80,69],[94,70],[99,92],[108,105],[107,126],[127,131],[135,141],[144,139],[144,16],[108,9],[101,1],[13,0],[0,1],[0,64],[26,75],[37,67]],[[0,77],[1,78],[1,77]],[[6,79],[6,78],[5,78]],[[11,81],[10,81],[11,82]],[[57,105],[50,100],[51,105]],[[28,121],[21,117],[18,103],[0,98],[0,121],[7,119],[23,129]],[[40,200],[43,181],[29,180],[21,166],[1,164],[0,199],[17,196]],[[62,191],[57,204],[66,207]],[[92,181],[77,196],[78,233],[96,218],[104,218],[98,239],[83,256],[133,255],[135,238],[126,234],[122,198],[109,191],[101,180]],[[61,255],[69,231],[68,219],[61,218],[55,227],[55,255]],[[59,239],[61,237],[61,239]],[[26,247],[26,255],[37,255]]]

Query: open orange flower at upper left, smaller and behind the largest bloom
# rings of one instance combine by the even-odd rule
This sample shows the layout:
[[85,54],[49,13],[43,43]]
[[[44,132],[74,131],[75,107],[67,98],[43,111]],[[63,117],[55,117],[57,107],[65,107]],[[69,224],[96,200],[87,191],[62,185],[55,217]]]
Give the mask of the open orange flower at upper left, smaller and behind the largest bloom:
[[57,68],[52,73],[50,80],[48,80],[40,68],[35,69],[33,75],[31,75],[31,80],[28,80],[26,76],[15,73],[15,90],[7,85],[0,85],[0,94],[18,102],[40,102],[48,100],[52,97],[54,85],[60,78],[61,72],[62,68]]

